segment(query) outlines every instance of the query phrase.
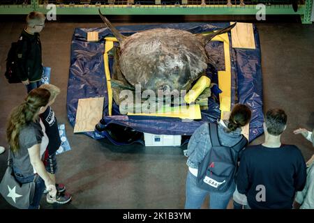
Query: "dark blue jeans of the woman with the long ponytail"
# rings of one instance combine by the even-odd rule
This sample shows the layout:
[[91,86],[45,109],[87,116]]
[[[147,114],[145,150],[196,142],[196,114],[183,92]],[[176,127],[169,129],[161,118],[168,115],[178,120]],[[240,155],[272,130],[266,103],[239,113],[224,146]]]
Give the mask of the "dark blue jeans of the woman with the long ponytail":
[[[20,171],[18,171],[14,167],[13,169],[14,169],[15,178],[17,179],[19,183],[22,183],[22,184],[32,182],[33,178],[35,178],[36,176],[35,174],[23,176],[22,174],[20,174]],[[45,190],[45,181],[42,178],[40,178],[40,176],[38,176],[36,180],[35,192],[33,194],[33,201],[29,204],[29,209],[39,208],[40,199],[43,196],[44,190]]]

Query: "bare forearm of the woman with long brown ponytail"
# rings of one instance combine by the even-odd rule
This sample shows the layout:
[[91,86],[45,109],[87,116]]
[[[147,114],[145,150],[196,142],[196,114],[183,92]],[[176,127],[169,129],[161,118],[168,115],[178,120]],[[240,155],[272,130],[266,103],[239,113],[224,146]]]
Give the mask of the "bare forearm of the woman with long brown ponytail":
[[31,146],[31,148],[28,148],[28,151],[31,165],[36,169],[37,174],[45,181],[45,186],[49,191],[50,196],[55,197],[57,193],[56,186],[48,175],[43,161],[40,159],[40,144]]

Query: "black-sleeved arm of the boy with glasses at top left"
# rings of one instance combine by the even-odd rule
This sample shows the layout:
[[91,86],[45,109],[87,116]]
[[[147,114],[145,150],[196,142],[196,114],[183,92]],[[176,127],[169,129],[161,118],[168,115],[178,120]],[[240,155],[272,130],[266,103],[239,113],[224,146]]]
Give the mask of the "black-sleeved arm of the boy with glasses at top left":
[[16,72],[17,77],[20,78],[23,84],[29,84],[29,77],[28,77],[28,68],[27,68],[27,41],[26,40],[19,40],[17,45],[17,52],[15,61],[16,64]]

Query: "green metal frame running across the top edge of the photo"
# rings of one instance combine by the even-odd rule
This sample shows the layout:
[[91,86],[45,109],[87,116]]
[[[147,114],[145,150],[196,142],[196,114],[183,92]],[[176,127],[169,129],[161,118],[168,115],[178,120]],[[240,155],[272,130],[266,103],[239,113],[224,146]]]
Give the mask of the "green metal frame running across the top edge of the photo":
[[[295,13],[292,6],[267,6],[267,15],[300,15],[303,24],[311,24],[313,0],[306,0]],[[258,10],[255,5],[224,6],[224,5],[57,5],[57,15],[98,15],[98,8],[106,15],[255,15]],[[39,5],[38,0],[31,0],[31,5],[0,5],[1,14],[27,14],[31,10],[47,13],[45,5]]]

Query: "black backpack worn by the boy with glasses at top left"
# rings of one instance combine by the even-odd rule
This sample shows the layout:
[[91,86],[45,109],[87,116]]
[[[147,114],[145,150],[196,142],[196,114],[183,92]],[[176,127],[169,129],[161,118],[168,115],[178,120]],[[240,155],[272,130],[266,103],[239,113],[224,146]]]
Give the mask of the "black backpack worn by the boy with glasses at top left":
[[17,42],[11,43],[11,48],[8,52],[8,57],[6,59],[6,72],[5,76],[8,79],[9,84],[20,83],[21,80],[17,77],[17,63],[15,61],[17,54],[17,47],[20,44],[20,40]]

